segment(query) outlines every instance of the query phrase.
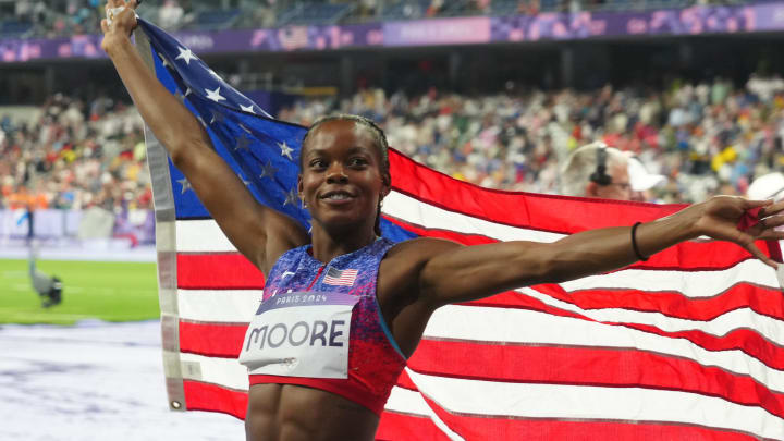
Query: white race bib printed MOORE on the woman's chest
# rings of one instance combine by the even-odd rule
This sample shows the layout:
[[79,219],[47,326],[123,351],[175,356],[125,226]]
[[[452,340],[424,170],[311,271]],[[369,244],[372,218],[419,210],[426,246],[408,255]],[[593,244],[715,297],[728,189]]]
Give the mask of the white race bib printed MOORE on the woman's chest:
[[317,292],[268,298],[245,333],[240,363],[252,375],[348,378],[351,316],[358,299]]

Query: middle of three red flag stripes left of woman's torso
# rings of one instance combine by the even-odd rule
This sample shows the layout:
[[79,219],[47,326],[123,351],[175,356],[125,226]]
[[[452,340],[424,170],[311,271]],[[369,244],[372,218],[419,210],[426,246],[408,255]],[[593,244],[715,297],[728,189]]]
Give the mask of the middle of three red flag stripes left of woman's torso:
[[208,357],[236,358],[245,341],[245,324],[196,323],[180,320],[180,351]]

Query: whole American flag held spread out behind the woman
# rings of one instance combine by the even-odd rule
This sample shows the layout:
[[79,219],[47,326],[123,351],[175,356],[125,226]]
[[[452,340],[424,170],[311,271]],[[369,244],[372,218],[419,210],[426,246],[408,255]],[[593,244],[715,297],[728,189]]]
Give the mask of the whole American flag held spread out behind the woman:
[[[305,128],[269,118],[151,24],[139,21],[136,41],[254,196],[308,228],[295,188]],[[243,418],[248,380],[236,357],[264,277],[146,135],[170,404]],[[390,162],[382,231],[394,241],[552,242],[683,208],[486,189],[394,150]],[[777,243],[758,245],[781,257]],[[736,245],[693,241],[604,275],[439,309],[377,437],[783,439],[783,345],[775,271]]]

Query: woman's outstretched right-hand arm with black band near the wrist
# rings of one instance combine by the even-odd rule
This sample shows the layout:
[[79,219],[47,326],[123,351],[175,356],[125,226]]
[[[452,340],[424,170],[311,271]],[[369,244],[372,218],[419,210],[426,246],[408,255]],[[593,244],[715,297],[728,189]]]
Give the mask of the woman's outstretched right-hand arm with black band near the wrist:
[[[743,215],[761,207],[757,225],[737,228]],[[781,240],[784,232],[784,203],[755,201],[742,197],[716,196],[675,215],[639,225],[636,243],[650,256],[672,245],[710,236],[734,242],[767,265],[776,262],[760,252],[756,240]],[[432,308],[482,298],[506,290],[537,283],[578,279],[623,268],[638,260],[632,245],[629,226],[586,231],[558,242],[502,242],[480,246],[461,246],[430,240],[422,250],[429,256],[419,272],[419,302]]]

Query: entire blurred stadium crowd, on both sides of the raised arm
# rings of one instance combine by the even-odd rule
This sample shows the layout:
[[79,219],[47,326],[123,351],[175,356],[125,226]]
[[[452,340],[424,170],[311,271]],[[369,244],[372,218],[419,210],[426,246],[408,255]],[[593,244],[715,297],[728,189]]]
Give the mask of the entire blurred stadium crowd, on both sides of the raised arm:
[[[777,76],[752,75],[745,87],[722,78],[674,82],[665,90],[406,96],[366,89],[347,99],[297,100],[279,118],[307,125],[331,112],[371,118],[391,146],[417,161],[502,189],[559,193],[563,160],[593,140],[667,176],[653,189],[654,200],[664,203],[745,194],[755,176],[784,168],[784,81]],[[26,125],[0,120],[0,207],[150,207],[142,121],[133,108],[58,95]]]

